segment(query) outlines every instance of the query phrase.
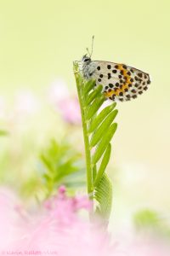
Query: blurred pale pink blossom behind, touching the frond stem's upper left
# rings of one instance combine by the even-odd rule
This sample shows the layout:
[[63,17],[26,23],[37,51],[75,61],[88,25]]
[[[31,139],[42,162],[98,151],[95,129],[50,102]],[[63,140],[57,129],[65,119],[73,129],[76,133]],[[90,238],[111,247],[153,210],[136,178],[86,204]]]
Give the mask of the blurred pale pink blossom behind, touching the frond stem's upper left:
[[49,100],[69,124],[79,125],[81,113],[77,96],[71,96],[65,82],[56,79],[49,90]]

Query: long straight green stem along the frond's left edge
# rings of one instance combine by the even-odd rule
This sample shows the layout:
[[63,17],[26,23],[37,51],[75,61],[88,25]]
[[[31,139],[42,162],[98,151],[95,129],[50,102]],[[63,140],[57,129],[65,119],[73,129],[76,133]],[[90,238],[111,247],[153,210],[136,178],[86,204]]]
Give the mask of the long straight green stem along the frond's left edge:
[[[76,77],[77,80],[77,77]],[[86,122],[86,106],[84,104],[85,99],[82,94],[83,84],[79,84],[77,80],[77,92],[78,98],[80,102],[81,114],[82,114],[82,130],[84,137],[84,147],[85,147],[85,155],[86,155],[86,166],[87,166],[87,189],[88,189],[88,198],[93,201],[94,198],[94,189],[93,189],[93,174],[92,174],[92,165],[91,165],[91,154],[88,140],[88,124]]]

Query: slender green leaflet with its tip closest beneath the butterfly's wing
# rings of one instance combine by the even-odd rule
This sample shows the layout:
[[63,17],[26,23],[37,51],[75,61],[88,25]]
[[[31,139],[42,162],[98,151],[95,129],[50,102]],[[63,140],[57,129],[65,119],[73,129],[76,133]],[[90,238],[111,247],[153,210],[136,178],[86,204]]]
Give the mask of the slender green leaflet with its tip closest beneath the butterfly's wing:
[[111,113],[111,111],[116,107],[116,103],[111,104],[110,106],[107,106],[104,108],[98,116],[92,121],[88,132],[93,132],[100,124],[101,122],[106,118],[106,116]]

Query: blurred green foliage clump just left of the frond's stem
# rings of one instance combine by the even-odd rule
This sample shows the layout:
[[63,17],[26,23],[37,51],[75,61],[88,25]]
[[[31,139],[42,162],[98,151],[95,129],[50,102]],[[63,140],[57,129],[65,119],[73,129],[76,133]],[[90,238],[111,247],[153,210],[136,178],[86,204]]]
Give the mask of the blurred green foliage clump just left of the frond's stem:
[[46,195],[56,192],[59,185],[69,188],[81,188],[85,185],[85,168],[82,154],[68,143],[57,143],[54,139],[40,155],[43,187]]

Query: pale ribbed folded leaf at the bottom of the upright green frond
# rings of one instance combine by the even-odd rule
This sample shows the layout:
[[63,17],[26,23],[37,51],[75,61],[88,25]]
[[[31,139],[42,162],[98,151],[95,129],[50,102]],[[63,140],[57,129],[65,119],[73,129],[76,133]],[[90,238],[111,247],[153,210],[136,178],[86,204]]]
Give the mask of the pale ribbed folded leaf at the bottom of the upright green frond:
[[111,214],[112,185],[106,174],[101,177],[100,182],[95,189],[94,198],[99,202],[99,214],[103,218],[108,219]]

